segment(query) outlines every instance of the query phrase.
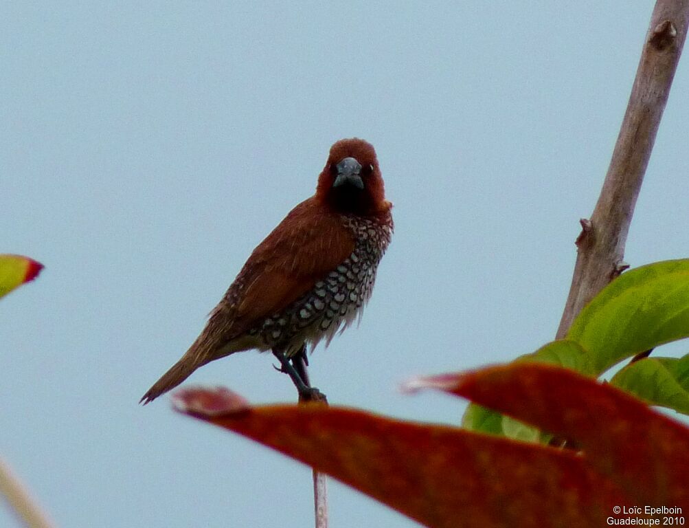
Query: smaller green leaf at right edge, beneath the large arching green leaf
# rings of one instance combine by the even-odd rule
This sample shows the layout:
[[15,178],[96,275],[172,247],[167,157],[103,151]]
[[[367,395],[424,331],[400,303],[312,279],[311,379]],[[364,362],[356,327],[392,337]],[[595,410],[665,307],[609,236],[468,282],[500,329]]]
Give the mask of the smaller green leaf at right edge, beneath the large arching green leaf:
[[644,358],[621,369],[610,383],[651,405],[689,414],[689,354],[683,358]]

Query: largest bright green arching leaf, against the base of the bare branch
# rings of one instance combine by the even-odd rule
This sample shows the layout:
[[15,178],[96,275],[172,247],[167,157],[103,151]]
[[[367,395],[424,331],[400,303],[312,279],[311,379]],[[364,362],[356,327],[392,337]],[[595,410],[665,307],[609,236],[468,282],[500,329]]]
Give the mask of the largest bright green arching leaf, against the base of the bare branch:
[[593,374],[658,345],[689,336],[689,260],[621,274],[575,318],[567,338],[589,354]]

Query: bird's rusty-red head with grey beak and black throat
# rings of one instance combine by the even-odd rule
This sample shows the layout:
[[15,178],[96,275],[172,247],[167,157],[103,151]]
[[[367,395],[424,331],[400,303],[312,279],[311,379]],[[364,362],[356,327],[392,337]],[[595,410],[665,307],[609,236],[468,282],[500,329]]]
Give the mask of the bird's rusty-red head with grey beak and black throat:
[[375,214],[387,210],[376,150],[363,139],[340,139],[330,148],[318,176],[316,197],[338,212]]

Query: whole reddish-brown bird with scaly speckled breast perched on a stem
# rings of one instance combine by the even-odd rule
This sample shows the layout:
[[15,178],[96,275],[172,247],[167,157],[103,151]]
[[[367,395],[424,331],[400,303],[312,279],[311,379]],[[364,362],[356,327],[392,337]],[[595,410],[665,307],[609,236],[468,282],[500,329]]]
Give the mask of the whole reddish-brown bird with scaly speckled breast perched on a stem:
[[201,365],[249,349],[272,350],[302,395],[308,381],[289,358],[305,354],[306,345],[330,343],[361,316],[390,243],[391,208],[373,145],[356,138],[335,143],[316,194],[256,247],[203,332],[141,401],[176,387]]

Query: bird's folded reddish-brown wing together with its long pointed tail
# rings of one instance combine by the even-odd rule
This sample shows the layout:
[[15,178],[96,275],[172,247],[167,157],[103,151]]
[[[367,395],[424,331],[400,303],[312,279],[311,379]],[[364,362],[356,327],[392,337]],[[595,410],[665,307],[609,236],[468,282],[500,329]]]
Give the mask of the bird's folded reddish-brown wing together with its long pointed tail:
[[154,400],[201,365],[236,351],[235,340],[311,290],[353,250],[353,234],[339,215],[315,199],[297,205],[249,256],[187,353],[141,401]]

